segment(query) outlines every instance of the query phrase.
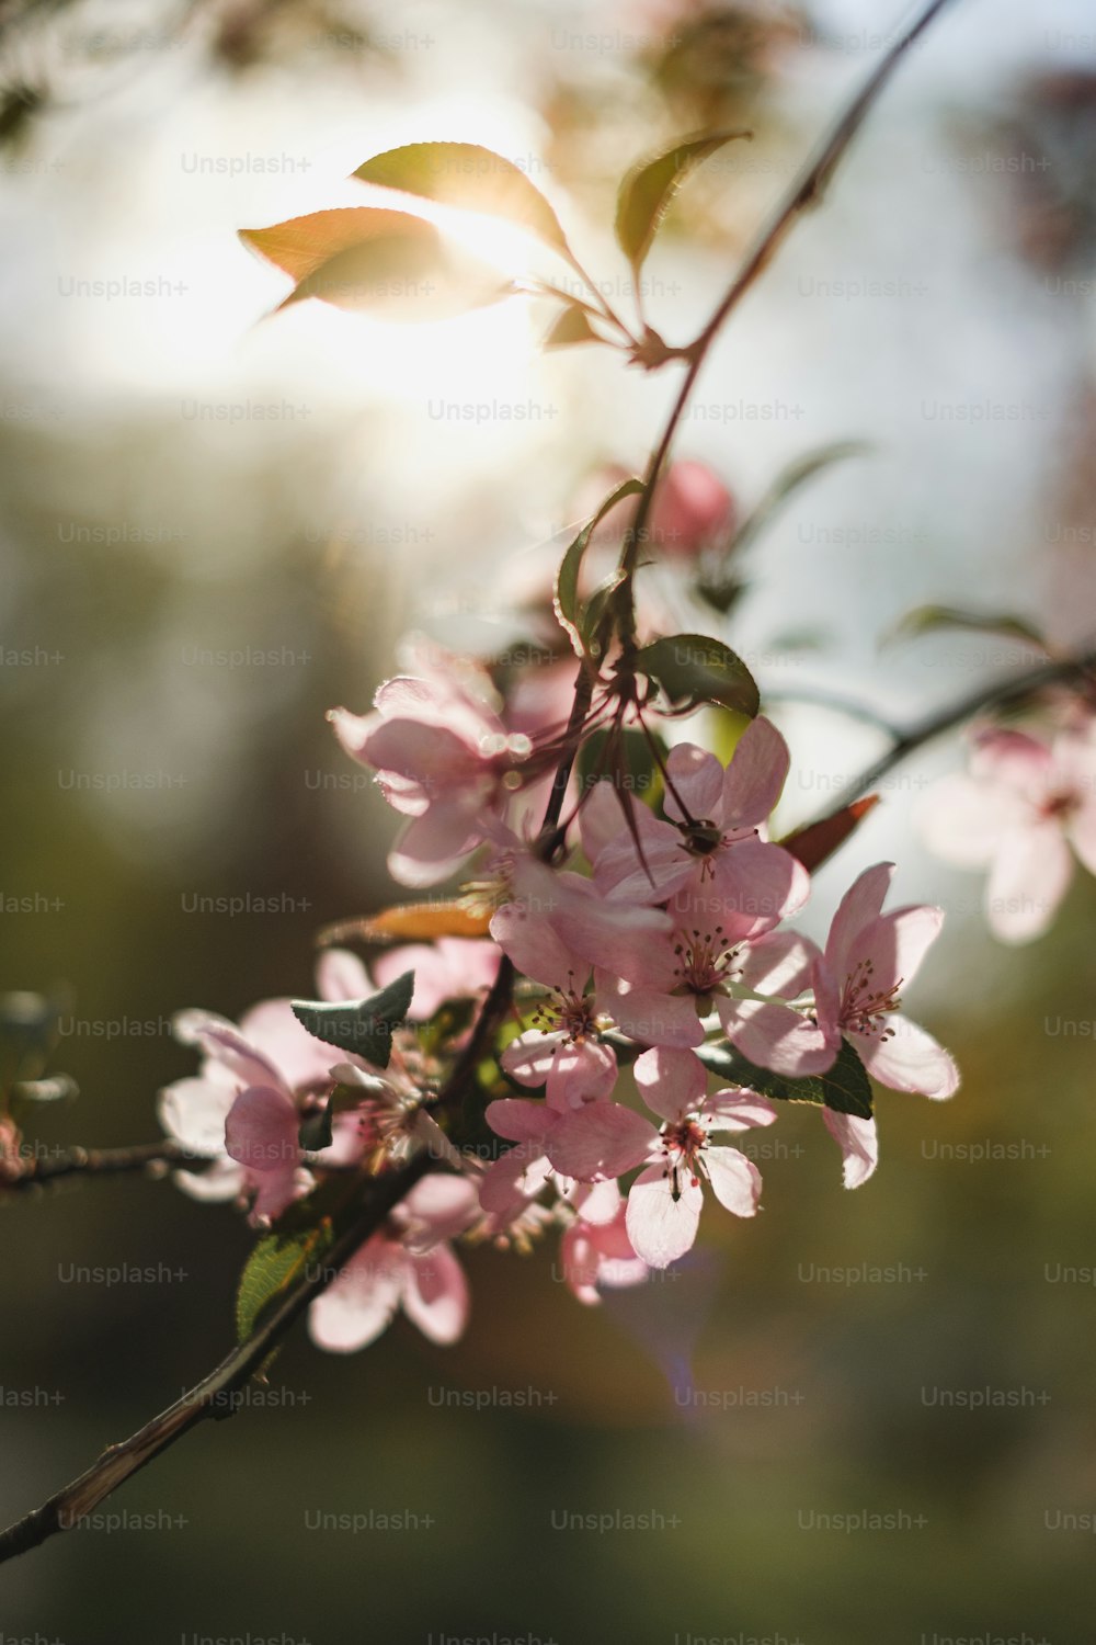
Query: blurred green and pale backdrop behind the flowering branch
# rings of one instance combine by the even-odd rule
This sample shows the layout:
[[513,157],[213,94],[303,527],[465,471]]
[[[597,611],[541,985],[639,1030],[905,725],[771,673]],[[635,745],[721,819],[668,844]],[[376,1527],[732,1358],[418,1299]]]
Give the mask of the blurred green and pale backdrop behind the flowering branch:
[[[619,174],[749,123],[647,266],[682,342],[897,21],[881,0],[0,7],[0,980],[61,990],[82,1092],[43,1147],[153,1138],[191,1066],[171,1013],[307,994],[317,928],[391,900],[391,818],[325,709],[363,709],[408,628],[481,640],[503,568],[592,469],[642,461],[674,387],[542,355],[532,303],[265,319],[284,281],[237,229],[345,199],[383,148],[463,138],[527,171],[626,303]],[[873,443],[774,520],[728,632],[794,745],[787,824],[882,745],[794,699],[914,724],[1030,663],[984,637],[881,648],[912,605],[1017,610],[1057,645],[1093,627],[1094,153],[1091,8],[955,0],[703,373],[679,451],[743,507],[804,451]],[[552,1249],[477,1252],[454,1351],[406,1323],[348,1359],[296,1337],[276,1400],[110,1504],[150,1528],[3,1569],[3,1637],[1089,1640],[1091,1533],[1068,1527],[1096,1510],[1096,1291],[1063,1275],[1096,1263],[1096,890],[1080,877],[1034,946],[994,944],[978,878],[912,822],[960,758],[945,739],[894,775],[807,920],[881,857],[900,900],[950,913],[912,1003],[965,1084],[946,1107],[881,1097],[874,1181],[846,1194],[795,1109],[758,1145],[764,1216],[705,1222],[672,1283],[587,1311]],[[189,911],[246,893],[283,911]],[[145,1179],[0,1226],[7,1522],[222,1355],[250,1234]],[[64,1280],[118,1262],[171,1277]],[[822,1278],[864,1263],[889,1278]],[[971,1390],[989,1408],[948,1403]],[[309,1528],[370,1508],[417,1528]],[[822,1528],[850,1513],[897,1528]]]

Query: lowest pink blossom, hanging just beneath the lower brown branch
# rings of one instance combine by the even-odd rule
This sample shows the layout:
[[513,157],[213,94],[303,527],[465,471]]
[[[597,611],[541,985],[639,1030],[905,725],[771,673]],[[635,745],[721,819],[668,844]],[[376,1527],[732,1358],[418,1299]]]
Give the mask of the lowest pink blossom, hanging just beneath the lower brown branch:
[[431,1339],[450,1344],[468,1321],[468,1283],[449,1247],[477,1214],[475,1186],[463,1176],[427,1176],[348,1260],[309,1309],[317,1347],[350,1354],[366,1347],[403,1308]]

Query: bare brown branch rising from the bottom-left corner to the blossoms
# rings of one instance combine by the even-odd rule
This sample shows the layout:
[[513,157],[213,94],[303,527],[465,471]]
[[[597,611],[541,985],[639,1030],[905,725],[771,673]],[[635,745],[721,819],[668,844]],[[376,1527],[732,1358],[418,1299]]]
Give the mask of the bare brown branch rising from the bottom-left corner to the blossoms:
[[92,1513],[112,1490],[146,1467],[154,1457],[181,1439],[207,1416],[220,1418],[237,1408],[232,1395],[261,1369],[271,1351],[281,1342],[304,1309],[335,1278],[340,1268],[360,1245],[375,1234],[388,1212],[408,1189],[437,1161],[427,1153],[417,1155],[403,1171],[370,1178],[365,1184],[361,1214],[330,1247],[317,1272],[291,1291],[240,1347],[222,1359],[220,1365],[189,1388],[181,1400],[169,1405],[159,1416],[140,1428],[120,1444],[112,1444],[97,1462],[74,1479],[56,1495],[43,1502],[25,1518],[16,1520],[0,1533],[0,1564],[20,1553],[38,1548],[59,1531],[79,1528],[81,1520]]

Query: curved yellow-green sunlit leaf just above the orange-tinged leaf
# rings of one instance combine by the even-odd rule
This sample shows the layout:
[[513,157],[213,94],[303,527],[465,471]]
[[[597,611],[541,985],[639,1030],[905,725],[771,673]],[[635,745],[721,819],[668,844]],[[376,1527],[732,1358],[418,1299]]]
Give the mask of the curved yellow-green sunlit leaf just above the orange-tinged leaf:
[[408,143],[366,160],[353,176],[439,206],[504,217],[569,255],[567,237],[541,191],[511,160],[478,143]]

